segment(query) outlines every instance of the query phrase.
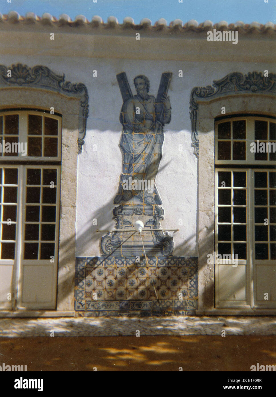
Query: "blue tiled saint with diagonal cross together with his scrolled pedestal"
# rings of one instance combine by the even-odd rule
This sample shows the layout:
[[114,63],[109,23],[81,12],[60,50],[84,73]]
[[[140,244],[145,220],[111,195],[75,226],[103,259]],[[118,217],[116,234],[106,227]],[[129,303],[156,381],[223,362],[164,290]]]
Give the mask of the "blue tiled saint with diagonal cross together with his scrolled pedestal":
[[[113,210],[117,229],[133,227],[137,219],[142,220],[148,230],[158,229],[161,227],[160,221],[164,219],[164,210],[158,207],[162,201],[155,186],[155,178],[162,157],[164,126],[171,121],[171,104],[167,95],[171,76],[171,72],[162,73],[155,98],[149,95],[149,79],[146,76],[138,75],[134,78],[137,94],[133,95],[126,73],[117,75],[123,98],[120,112],[123,132],[119,144],[123,167],[114,199],[114,204],[119,206]],[[102,251],[122,256],[139,255],[140,242],[132,239],[131,243],[121,247],[124,237],[117,232],[102,237]],[[148,254],[172,254],[173,239],[168,233],[149,231],[144,239]]]

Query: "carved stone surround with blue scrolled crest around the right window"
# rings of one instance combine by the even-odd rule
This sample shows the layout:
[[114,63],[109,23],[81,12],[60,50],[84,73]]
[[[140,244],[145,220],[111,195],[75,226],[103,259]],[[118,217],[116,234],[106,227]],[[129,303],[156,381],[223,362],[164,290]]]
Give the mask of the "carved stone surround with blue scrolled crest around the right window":
[[[235,79],[243,82],[245,88],[238,88],[234,83],[225,91],[220,87],[220,84],[236,81]],[[195,87],[191,93],[192,145],[198,156],[198,314],[219,312],[214,308],[214,266],[207,265],[207,254],[214,251],[215,118],[221,116],[222,107],[226,108],[226,115],[258,113],[275,116],[275,82],[276,75],[272,73],[267,78],[257,72],[245,76],[241,73],[230,73],[220,81],[214,82],[215,88]],[[220,312],[223,314],[223,310]],[[239,313],[233,309],[233,314],[245,314],[245,312],[254,314],[253,310],[240,310]],[[263,314],[267,312],[269,311],[260,310]],[[230,314],[231,310],[227,309],[227,313]]]

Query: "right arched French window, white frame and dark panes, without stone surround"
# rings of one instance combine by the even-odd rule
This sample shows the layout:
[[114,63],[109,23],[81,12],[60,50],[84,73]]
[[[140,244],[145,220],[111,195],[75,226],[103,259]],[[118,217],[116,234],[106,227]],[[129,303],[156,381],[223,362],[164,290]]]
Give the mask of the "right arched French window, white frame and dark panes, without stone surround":
[[275,307],[275,146],[272,116],[216,119],[215,252],[222,257],[215,263],[217,307]]

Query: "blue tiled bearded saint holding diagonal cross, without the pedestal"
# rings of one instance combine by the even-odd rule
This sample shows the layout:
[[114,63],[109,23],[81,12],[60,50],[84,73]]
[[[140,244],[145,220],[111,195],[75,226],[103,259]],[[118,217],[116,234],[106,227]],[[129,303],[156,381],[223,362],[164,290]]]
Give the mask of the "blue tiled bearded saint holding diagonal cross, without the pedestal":
[[[132,204],[162,204],[155,187],[155,177],[162,157],[163,126],[171,121],[171,104],[167,96],[170,75],[171,73],[162,75],[158,101],[149,95],[149,79],[144,75],[134,78],[137,95],[132,96],[127,80],[123,83],[127,86],[125,92],[122,91],[122,85],[120,86],[125,99],[120,114],[123,125],[120,141],[123,171],[114,204],[126,201]],[[143,184],[140,185],[140,190],[137,189],[135,179],[147,180],[148,189],[141,189]],[[129,182],[128,188],[124,181]]]

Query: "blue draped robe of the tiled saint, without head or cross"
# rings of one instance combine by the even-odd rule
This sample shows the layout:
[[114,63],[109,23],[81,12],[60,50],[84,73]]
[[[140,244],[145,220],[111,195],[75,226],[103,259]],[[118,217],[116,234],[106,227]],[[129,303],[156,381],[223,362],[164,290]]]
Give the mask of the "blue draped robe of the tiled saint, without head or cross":
[[[140,114],[137,112],[139,108]],[[137,114],[138,113],[138,114]],[[161,120],[156,117],[156,100],[148,95],[145,99],[134,95],[123,103],[120,122],[123,125],[120,147],[123,152],[123,172],[120,178],[119,191],[114,204],[136,198],[145,204],[162,204],[155,187],[155,177],[162,157],[164,141],[163,125],[171,121],[171,107],[164,104]],[[123,189],[123,181],[153,180],[154,189]]]

